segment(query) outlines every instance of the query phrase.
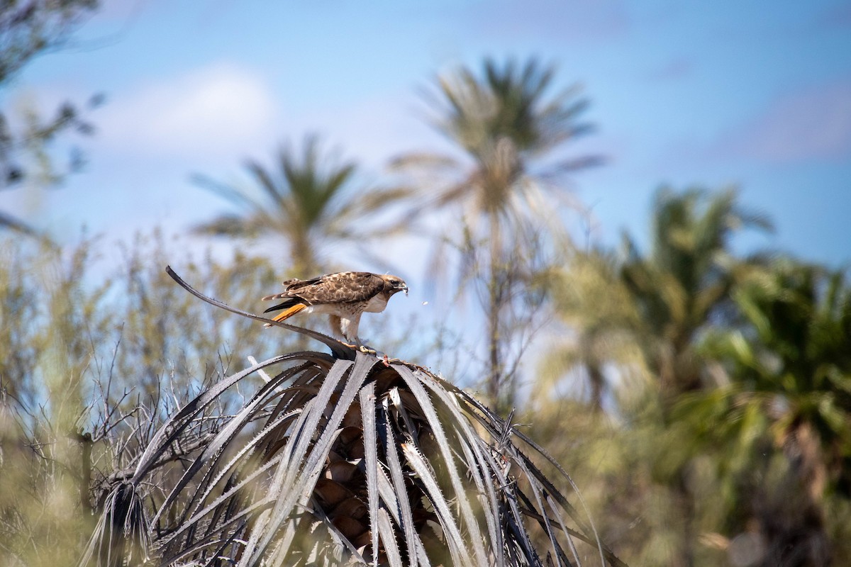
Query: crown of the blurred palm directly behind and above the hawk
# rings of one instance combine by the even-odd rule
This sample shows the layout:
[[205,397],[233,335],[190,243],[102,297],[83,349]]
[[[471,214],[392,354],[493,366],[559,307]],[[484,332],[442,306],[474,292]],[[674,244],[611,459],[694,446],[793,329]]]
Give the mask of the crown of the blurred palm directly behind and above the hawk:
[[309,277],[327,268],[323,248],[339,242],[360,242],[387,234],[376,228],[376,215],[397,204],[409,191],[359,186],[357,165],[323,153],[316,135],[307,136],[300,154],[289,145],[277,153],[277,171],[249,160],[245,168],[254,188],[235,187],[205,176],[195,180],[203,188],[243,209],[226,213],[195,231],[203,234],[255,237],[280,235],[288,241],[288,270]]

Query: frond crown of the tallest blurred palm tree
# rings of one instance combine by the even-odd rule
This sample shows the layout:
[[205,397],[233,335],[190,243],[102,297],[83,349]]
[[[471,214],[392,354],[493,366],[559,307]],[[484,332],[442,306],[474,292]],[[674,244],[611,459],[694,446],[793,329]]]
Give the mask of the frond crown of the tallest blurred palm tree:
[[[558,145],[591,131],[580,122],[587,108],[578,87],[550,95],[555,68],[531,58],[499,63],[486,59],[481,73],[461,67],[437,78],[426,93],[435,110],[431,123],[457,143],[473,161],[472,171],[448,156],[414,155],[397,158],[393,167],[427,168],[438,178],[440,205],[472,201],[477,213],[509,208],[516,184],[529,175],[530,159],[545,156]],[[599,162],[597,157],[562,160],[546,175],[572,171]],[[428,184],[434,187],[434,179]],[[455,187],[464,190],[456,191]],[[434,190],[429,191],[433,195]]]

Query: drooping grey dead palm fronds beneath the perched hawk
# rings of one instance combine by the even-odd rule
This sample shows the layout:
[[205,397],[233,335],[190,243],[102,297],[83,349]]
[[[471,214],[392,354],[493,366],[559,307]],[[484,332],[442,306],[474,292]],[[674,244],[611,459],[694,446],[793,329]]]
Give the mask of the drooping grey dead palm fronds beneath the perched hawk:
[[[510,422],[419,366],[277,326],[331,354],[254,364],[168,418],[106,497],[81,564],[623,565],[514,440],[559,484],[568,474]],[[264,385],[212,417],[252,375]],[[199,434],[203,448],[163,473]]]

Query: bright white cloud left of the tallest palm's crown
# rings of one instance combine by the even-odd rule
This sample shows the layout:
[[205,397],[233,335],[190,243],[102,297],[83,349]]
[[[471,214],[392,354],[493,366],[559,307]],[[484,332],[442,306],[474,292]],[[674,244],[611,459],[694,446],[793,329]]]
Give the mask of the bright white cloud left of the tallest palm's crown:
[[277,108],[266,83],[216,64],[112,94],[99,112],[106,149],[133,156],[239,156],[274,139]]

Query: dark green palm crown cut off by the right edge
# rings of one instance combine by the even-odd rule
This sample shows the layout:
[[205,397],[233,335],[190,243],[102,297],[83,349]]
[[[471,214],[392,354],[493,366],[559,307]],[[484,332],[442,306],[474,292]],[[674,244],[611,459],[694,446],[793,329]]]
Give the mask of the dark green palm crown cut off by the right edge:
[[781,260],[734,297],[749,332],[718,337],[715,347],[735,382],[762,405],[814,499],[828,487],[851,496],[851,287],[843,273]]

